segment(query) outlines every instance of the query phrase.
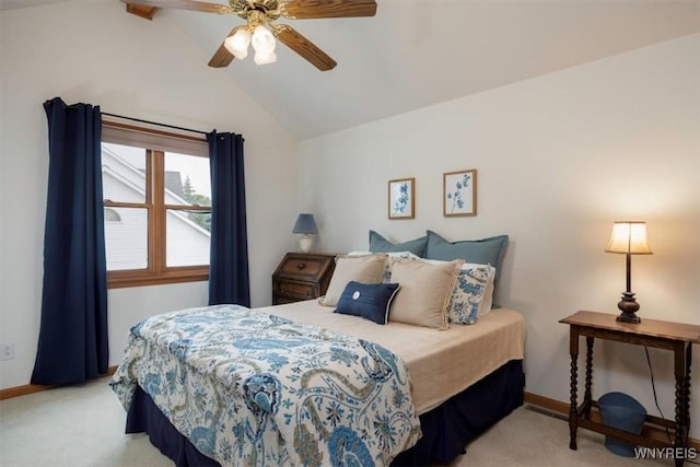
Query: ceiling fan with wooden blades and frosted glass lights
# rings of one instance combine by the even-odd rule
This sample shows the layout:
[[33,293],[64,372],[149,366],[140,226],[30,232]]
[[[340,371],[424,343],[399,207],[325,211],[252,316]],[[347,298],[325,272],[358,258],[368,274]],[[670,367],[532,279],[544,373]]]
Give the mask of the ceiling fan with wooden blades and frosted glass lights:
[[196,0],[121,0],[127,11],[151,20],[159,8],[235,14],[246,21],[235,26],[214,52],[209,66],[228,67],[234,58],[247,56],[248,45],[255,49],[255,62],[271,63],[277,59],[276,39],[301,55],[320,71],[338,65],[325,51],[287,24],[273,24],[277,19],[311,20],[324,17],[374,16],[374,0],[229,0],[229,5]]

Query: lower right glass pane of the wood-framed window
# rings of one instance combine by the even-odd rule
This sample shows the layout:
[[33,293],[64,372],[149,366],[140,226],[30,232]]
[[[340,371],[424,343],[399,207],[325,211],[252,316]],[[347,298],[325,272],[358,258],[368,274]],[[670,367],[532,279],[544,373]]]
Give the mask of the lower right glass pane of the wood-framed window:
[[167,267],[209,264],[211,214],[167,210],[166,254]]

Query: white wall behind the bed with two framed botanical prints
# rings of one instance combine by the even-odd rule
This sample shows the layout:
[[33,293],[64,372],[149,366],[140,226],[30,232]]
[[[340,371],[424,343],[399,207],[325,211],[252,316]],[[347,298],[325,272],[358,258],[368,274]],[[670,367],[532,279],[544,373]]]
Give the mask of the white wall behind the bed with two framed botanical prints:
[[[370,229],[397,242],[425,229],[509,234],[499,299],[528,323],[526,390],[569,401],[558,320],[618,313],[625,257],[604,253],[612,221],[648,221],[654,255],[632,259],[641,317],[700,324],[699,117],[695,35],[304,141],[300,208],[330,252],[365,249]],[[443,218],[442,174],[466,168],[478,170],[478,215]],[[416,219],[389,221],[386,184],[404,177],[416,177]],[[622,390],[657,413],[642,348],[597,342],[595,355],[596,397]],[[673,418],[672,354],[651,357]],[[696,439],[699,407],[692,390]]]

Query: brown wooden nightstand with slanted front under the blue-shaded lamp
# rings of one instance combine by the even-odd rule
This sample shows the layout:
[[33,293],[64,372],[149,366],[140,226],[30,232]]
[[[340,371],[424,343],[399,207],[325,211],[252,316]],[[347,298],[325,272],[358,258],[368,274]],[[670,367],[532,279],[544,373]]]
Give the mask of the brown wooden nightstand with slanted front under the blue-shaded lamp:
[[272,305],[316,299],[328,289],[336,255],[288,253],[272,275]]

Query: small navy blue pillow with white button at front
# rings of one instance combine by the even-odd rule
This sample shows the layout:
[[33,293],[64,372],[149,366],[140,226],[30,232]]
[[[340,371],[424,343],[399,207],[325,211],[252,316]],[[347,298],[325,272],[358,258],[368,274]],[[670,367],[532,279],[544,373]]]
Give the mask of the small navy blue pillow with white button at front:
[[392,300],[398,289],[397,283],[350,281],[340,294],[334,313],[361,316],[378,325],[385,325],[389,317]]

